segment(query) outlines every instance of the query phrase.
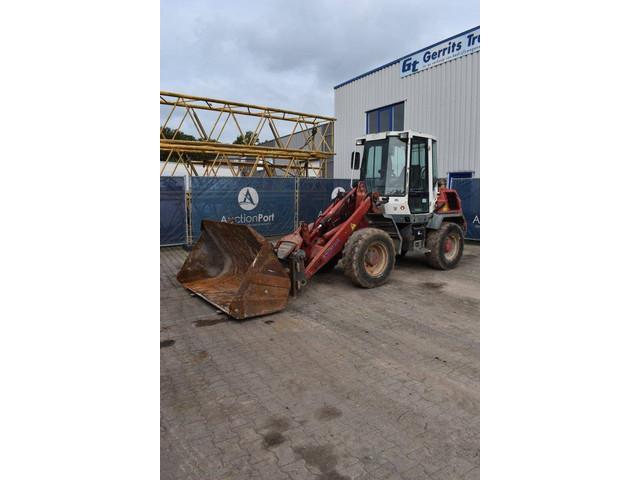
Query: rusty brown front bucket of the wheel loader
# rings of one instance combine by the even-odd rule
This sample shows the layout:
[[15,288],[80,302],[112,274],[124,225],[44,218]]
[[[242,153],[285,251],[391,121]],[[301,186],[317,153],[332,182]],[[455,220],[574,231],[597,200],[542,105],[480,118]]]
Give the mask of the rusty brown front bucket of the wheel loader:
[[291,282],[271,244],[253,228],[203,220],[178,281],[233,318],[279,312]]

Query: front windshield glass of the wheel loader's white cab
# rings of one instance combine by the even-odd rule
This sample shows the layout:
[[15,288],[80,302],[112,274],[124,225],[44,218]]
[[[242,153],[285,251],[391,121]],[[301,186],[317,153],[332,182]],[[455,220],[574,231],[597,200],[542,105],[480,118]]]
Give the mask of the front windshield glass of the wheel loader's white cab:
[[406,152],[406,142],[398,137],[366,143],[360,180],[365,181],[367,191],[404,195]]

